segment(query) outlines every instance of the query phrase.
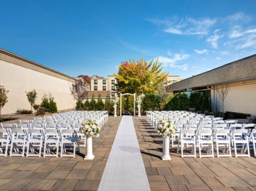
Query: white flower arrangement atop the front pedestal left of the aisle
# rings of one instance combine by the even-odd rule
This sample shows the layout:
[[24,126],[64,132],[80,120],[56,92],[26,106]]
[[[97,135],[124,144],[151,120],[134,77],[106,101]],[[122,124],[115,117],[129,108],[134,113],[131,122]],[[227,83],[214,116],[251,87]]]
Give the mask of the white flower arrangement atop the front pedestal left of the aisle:
[[84,121],[79,128],[79,131],[84,135],[98,135],[100,133],[99,123],[90,118]]

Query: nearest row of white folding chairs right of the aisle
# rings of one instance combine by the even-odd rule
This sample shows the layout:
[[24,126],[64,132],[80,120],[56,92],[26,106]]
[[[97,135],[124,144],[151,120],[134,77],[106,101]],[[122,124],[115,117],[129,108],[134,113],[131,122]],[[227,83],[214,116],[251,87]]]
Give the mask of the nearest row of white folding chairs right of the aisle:
[[[173,139],[175,139],[176,135],[172,135],[170,138],[172,140],[172,147],[174,147]],[[181,157],[196,157],[196,147],[199,150],[199,156],[201,157],[214,157],[214,143],[216,145],[217,157],[232,157],[231,155],[231,147],[234,147],[235,157],[250,157],[250,143],[252,142],[254,157],[256,157],[256,129],[215,129],[214,131],[211,129],[181,129],[179,132],[179,140],[178,140],[178,149],[181,147]],[[192,155],[184,155],[184,145],[191,146]],[[206,145],[205,145],[206,144]],[[241,153],[237,154],[237,144],[241,146]],[[201,150],[204,146],[207,146],[207,153],[202,155]],[[223,153],[227,154],[219,154],[219,147],[223,147]],[[247,154],[245,154],[247,152]]]

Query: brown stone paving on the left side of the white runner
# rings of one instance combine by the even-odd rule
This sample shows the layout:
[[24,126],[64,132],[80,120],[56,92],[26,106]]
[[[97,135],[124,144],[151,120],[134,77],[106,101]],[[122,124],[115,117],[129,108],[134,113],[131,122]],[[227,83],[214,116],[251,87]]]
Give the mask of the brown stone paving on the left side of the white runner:
[[0,190],[97,190],[121,117],[109,117],[93,139],[93,160],[75,158],[0,157]]

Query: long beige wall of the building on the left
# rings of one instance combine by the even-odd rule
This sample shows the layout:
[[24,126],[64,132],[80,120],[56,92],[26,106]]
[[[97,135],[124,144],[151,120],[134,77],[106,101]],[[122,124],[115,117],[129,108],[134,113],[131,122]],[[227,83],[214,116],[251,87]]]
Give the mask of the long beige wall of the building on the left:
[[[72,80],[72,79],[71,79]],[[71,80],[41,73],[18,64],[0,59],[0,85],[9,93],[8,103],[4,105],[2,114],[14,113],[17,109],[31,108],[26,93],[36,89],[36,104],[40,104],[44,93],[52,93],[58,110],[75,108],[75,101],[70,94]],[[73,80],[72,80],[73,81]]]

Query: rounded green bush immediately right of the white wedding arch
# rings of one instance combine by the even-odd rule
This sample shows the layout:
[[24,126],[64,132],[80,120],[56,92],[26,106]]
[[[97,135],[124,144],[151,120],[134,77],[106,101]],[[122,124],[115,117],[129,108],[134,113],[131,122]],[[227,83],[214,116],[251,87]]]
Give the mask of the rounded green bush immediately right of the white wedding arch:
[[142,106],[144,111],[160,110],[161,99],[158,94],[146,93],[142,100]]

